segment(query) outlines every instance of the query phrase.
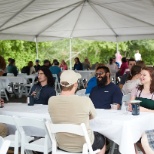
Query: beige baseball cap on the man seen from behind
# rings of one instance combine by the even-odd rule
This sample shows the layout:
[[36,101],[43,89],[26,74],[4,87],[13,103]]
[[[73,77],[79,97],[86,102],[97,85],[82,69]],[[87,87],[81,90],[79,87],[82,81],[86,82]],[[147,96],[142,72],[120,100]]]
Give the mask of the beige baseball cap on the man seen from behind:
[[[78,79],[81,78],[79,73],[74,72],[73,70],[65,70],[60,76],[60,84],[64,87],[69,87],[76,83]],[[63,85],[62,82],[68,82],[68,85]]]

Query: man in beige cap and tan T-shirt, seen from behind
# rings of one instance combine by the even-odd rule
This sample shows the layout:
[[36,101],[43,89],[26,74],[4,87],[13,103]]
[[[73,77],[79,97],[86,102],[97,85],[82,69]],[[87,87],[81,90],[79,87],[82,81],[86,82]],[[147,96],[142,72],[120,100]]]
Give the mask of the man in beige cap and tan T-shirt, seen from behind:
[[[79,73],[65,70],[60,76],[62,86],[61,95],[49,99],[49,114],[53,123],[81,124],[85,123],[93,150],[101,149],[99,154],[105,154],[105,138],[93,132],[89,127],[89,120],[93,119],[96,111],[88,97],[75,95],[78,87]],[[83,137],[60,133],[56,135],[58,147],[68,152],[81,152],[84,143]]]

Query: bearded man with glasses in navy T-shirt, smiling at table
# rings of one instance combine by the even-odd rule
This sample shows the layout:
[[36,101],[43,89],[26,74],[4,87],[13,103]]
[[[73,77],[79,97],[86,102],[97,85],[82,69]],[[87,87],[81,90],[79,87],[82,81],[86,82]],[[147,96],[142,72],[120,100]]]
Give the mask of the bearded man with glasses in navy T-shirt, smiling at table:
[[117,103],[118,109],[122,101],[122,92],[120,88],[110,81],[110,71],[106,66],[100,66],[96,69],[97,86],[95,86],[90,98],[95,108],[110,109],[111,104]]

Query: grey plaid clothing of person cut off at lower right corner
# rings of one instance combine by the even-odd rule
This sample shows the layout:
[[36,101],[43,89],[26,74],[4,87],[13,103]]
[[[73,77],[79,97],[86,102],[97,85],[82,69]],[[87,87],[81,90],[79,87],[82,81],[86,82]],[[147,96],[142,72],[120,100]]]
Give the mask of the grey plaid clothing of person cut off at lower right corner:
[[147,130],[146,132],[147,139],[149,146],[152,150],[154,150],[154,129],[153,130]]

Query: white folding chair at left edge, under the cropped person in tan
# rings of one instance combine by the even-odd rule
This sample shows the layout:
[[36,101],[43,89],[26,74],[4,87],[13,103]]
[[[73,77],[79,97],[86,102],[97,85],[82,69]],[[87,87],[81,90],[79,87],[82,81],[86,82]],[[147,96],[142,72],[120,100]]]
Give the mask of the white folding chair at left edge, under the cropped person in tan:
[[[0,123],[9,124],[16,127],[16,123],[14,122],[14,119],[11,116],[0,115]],[[18,130],[15,131],[15,134],[10,134],[4,137],[4,139],[10,141],[10,147],[14,148],[14,154],[18,154],[18,148],[21,146],[20,134]],[[31,141],[33,139],[33,137],[27,138],[28,141]]]

